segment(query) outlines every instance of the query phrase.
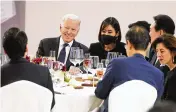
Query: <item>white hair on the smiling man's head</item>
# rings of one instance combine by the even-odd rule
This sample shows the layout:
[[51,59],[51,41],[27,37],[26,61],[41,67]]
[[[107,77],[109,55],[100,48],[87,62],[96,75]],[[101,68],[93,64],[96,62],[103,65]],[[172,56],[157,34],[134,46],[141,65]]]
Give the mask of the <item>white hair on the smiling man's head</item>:
[[66,15],[64,15],[64,16],[62,17],[61,26],[63,26],[64,21],[67,20],[67,19],[71,19],[71,20],[78,21],[79,24],[81,23],[81,20],[80,20],[80,18],[79,18],[77,15],[75,15],[75,14],[66,14]]

